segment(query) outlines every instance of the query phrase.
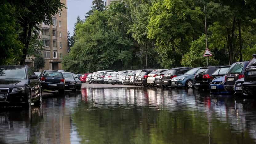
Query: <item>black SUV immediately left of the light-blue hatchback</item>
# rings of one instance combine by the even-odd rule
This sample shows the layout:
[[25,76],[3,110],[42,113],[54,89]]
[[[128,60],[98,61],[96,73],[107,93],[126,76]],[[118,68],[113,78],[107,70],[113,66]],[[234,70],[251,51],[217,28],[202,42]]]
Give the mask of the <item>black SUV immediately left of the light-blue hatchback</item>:
[[191,67],[176,67],[168,70],[166,74],[163,75],[162,86],[166,86],[166,87],[171,86],[172,78],[183,75],[191,69],[192,69]]

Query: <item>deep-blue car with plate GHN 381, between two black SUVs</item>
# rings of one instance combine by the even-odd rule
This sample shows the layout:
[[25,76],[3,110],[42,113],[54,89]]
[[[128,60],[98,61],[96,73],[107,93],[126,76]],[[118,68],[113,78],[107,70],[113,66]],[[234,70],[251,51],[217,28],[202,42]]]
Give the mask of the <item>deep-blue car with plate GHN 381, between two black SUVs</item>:
[[210,84],[210,94],[229,94],[230,91],[224,89],[225,76],[214,78]]

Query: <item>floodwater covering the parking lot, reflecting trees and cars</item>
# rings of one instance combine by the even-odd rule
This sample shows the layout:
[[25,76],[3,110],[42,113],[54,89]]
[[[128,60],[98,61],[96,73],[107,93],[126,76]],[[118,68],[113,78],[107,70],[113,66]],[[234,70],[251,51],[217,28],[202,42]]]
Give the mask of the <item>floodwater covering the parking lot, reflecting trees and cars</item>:
[[256,101],[194,89],[90,88],[0,110],[0,143],[255,143]]

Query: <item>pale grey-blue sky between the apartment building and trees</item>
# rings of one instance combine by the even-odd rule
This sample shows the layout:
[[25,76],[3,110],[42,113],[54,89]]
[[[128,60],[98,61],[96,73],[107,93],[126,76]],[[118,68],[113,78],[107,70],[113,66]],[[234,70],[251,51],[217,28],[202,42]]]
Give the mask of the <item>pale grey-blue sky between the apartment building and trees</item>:
[[85,13],[91,9],[92,1],[93,0],[67,0],[67,28],[70,32],[70,36],[73,35],[77,16],[81,19],[85,19]]

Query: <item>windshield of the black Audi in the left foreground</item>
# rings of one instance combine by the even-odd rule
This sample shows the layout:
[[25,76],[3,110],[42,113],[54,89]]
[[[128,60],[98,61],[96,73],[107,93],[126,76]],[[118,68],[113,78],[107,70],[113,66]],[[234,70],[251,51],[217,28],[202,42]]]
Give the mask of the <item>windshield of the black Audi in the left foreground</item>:
[[26,79],[25,68],[2,67],[0,68],[0,79]]

